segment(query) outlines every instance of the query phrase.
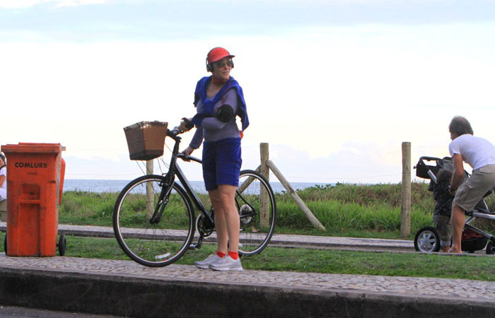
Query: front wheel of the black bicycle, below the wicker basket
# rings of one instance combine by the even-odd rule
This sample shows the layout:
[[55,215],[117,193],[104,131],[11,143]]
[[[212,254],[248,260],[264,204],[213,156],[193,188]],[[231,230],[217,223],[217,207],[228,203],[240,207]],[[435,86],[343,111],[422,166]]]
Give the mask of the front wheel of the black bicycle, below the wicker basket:
[[[139,177],[124,187],[115,202],[117,242],[127,256],[144,266],[172,264],[187,251],[194,236],[194,211],[185,190],[174,183],[161,200],[164,184],[163,176]],[[157,213],[159,217],[152,218]]]

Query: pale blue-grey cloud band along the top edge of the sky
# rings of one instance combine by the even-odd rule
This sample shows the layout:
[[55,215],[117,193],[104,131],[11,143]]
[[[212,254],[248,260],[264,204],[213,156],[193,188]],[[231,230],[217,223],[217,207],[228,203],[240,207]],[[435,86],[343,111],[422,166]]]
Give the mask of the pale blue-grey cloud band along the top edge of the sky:
[[2,10],[0,40],[40,33],[63,42],[277,36],[336,26],[495,20],[493,1],[0,0],[0,8],[25,8],[13,14]]

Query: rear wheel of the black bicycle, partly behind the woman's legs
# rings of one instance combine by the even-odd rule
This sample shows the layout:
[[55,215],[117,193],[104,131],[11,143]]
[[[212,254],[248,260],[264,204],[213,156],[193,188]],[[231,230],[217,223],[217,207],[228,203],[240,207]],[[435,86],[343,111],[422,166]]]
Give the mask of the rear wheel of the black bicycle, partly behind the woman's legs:
[[258,172],[243,170],[235,204],[240,217],[239,254],[260,253],[275,230],[276,204],[272,187]]

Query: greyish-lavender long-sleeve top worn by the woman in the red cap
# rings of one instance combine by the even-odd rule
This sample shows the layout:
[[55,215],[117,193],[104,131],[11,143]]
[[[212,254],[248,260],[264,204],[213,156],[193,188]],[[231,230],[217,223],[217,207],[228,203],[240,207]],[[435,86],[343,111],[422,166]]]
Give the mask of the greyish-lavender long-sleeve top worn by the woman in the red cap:
[[[238,96],[235,89],[228,90],[223,98],[216,102],[214,106],[214,113],[221,107],[221,105],[231,105],[234,114],[237,114],[238,108]],[[199,100],[196,105],[197,112],[202,112],[203,102]],[[235,122],[236,116],[234,116],[228,122],[221,122],[216,117],[206,117],[202,120],[201,126],[197,126],[196,132],[192,137],[189,144],[191,148],[197,149],[204,141],[219,141],[226,138],[240,138],[239,128]]]

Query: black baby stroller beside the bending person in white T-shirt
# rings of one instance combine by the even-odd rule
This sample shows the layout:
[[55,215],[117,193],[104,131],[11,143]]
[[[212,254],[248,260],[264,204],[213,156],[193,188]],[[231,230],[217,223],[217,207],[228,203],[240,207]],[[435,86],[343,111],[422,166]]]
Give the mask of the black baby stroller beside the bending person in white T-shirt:
[[[426,165],[425,161],[434,161],[436,165]],[[432,182],[437,182],[436,174],[438,170],[445,169],[453,171],[453,162],[450,157],[433,158],[433,157],[421,157],[416,166],[417,177],[423,179],[431,179]],[[466,177],[469,174],[465,172]],[[491,194],[491,190],[483,196],[486,197]],[[495,237],[490,233],[474,228],[470,225],[474,218],[484,218],[488,220],[495,220],[495,212],[490,212],[489,208],[481,199],[473,211],[466,213],[469,218],[466,220],[464,229],[462,230],[461,249],[464,252],[474,252],[487,247],[487,254],[495,254]],[[488,244],[487,244],[488,241]],[[440,237],[438,232],[432,226],[426,226],[419,229],[414,237],[414,249],[418,252],[438,252],[440,250]]]

